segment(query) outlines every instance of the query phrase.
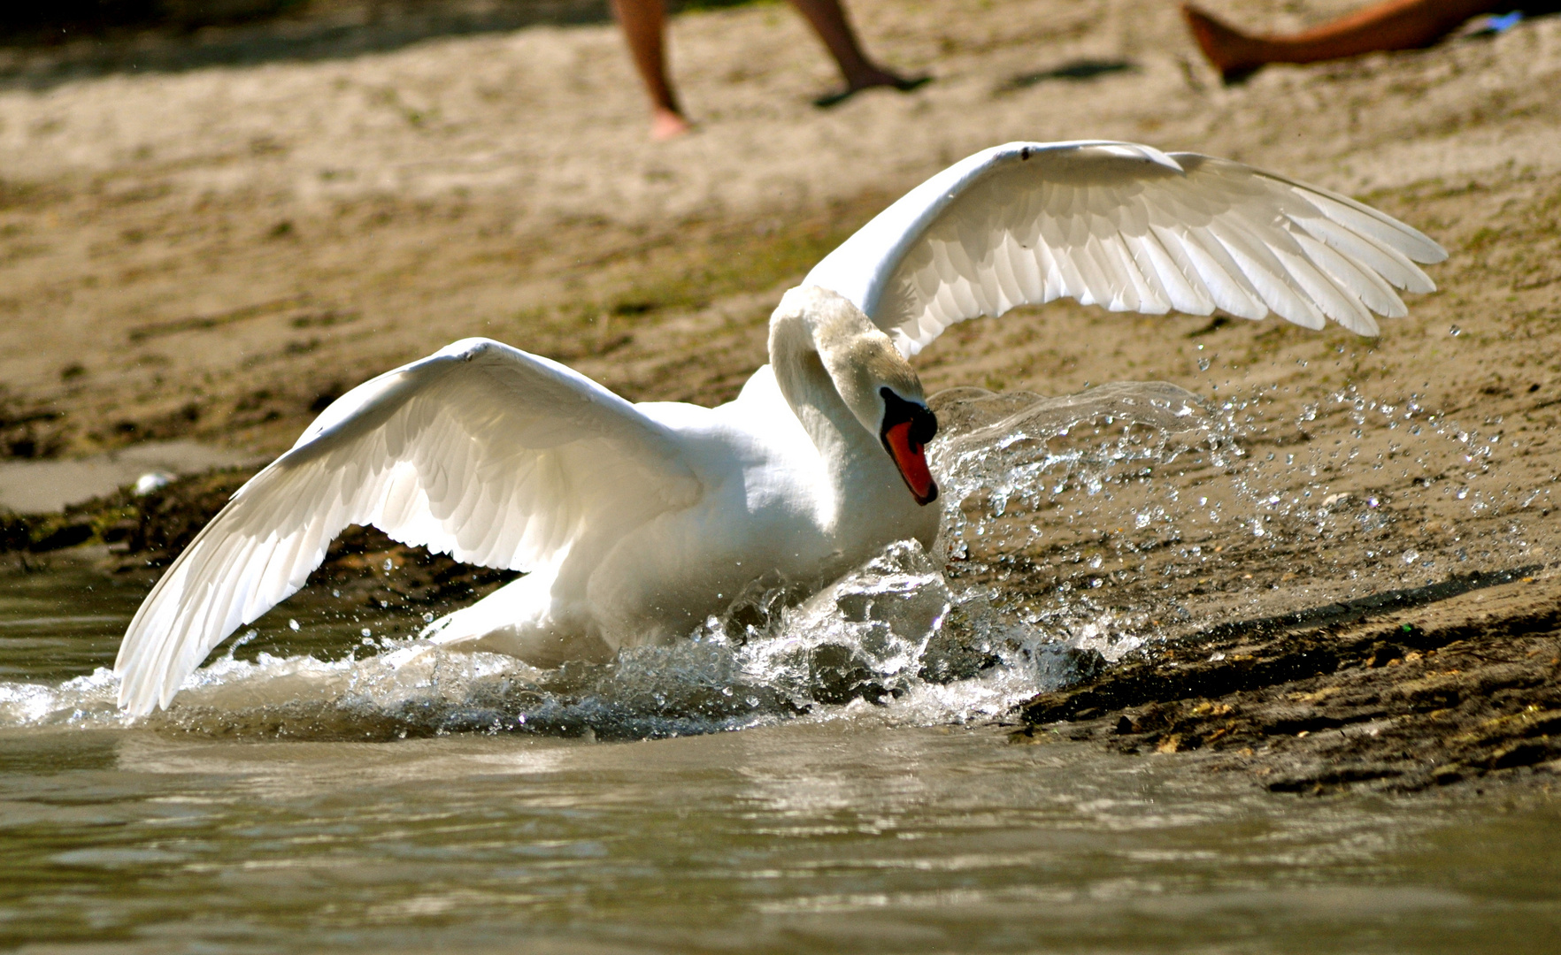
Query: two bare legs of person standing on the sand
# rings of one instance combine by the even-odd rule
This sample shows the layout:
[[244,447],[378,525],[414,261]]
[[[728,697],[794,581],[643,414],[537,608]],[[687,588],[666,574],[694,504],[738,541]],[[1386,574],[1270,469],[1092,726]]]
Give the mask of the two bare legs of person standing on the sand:
[[[926,76],[904,78],[885,70],[868,59],[857,42],[846,11],[840,0],[791,0],[791,6],[807,19],[809,25],[824,41],[824,47],[840,66],[840,73],[846,80],[846,89],[816,100],[820,106],[834,106],[852,94],[874,86],[891,86],[899,91],[910,91],[927,81]],[[634,69],[645,81],[645,92],[651,97],[651,137],[671,139],[682,136],[692,125],[677,105],[677,94],[667,76],[667,6],[663,0],[612,0],[612,8],[623,25],[623,36],[629,41],[629,55],[634,58]]]

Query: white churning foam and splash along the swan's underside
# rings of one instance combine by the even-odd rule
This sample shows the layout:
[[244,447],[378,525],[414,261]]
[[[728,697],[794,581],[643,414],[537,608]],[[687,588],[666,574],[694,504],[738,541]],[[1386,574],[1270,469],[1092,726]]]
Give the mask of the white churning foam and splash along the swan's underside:
[[[830,716],[865,704],[894,721],[946,722],[997,715],[1088,673],[1093,660],[1043,644],[976,591],[955,595],[915,541],[891,545],[801,604],[788,605],[787,596],[754,593],[688,640],[551,671],[411,637],[370,640],[357,648],[368,652],[337,660],[267,652],[242,660],[234,657],[240,638],[147,722],[297,738],[645,738]],[[0,683],[0,726],[126,726],[117,691],[108,668],[58,687]]]

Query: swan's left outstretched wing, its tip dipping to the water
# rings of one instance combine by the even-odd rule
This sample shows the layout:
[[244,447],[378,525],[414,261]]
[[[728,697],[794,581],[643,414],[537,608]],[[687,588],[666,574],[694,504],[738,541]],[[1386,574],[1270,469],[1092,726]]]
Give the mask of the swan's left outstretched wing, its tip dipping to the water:
[[131,620],[119,702],[165,707],[228,634],[303,587],[348,524],[531,570],[587,527],[634,527],[699,495],[677,437],[623,398],[498,342],[456,342],[343,395],[234,493]]

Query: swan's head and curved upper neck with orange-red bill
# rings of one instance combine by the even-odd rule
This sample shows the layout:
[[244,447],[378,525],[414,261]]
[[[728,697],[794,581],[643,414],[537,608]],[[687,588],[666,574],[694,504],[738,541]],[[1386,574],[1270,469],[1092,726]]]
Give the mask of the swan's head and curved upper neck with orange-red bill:
[[[927,470],[927,442],[938,418],[927,407],[921,378],[851,300],[835,292],[791,289],[776,311],[788,304],[805,317],[813,348],[851,414],[884,445],[918,504],[938,499],[938,484]],[[771,325],[771,354],[776,353]]]

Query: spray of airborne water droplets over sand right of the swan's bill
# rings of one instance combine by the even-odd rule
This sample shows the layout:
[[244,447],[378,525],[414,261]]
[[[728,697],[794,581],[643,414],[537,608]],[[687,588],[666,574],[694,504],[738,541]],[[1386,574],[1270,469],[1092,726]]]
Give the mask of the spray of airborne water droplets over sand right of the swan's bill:
[[1555,478],[1522,426],[1355,384],[1297,412],[1289,390],[938,396],[951,582],[1116,659],[1553,560]]

